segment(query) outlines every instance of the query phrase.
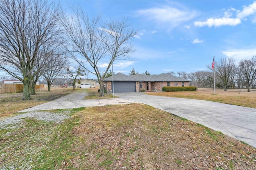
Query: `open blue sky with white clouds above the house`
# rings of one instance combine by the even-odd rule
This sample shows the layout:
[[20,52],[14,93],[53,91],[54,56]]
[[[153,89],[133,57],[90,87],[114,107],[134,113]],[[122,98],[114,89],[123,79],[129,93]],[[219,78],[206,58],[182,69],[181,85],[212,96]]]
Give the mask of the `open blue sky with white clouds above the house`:
[[[61,1],[62,3],[62,1]],[[151,74],[204,71],[222,57],[256,55],[256,1],[78,1],[103,19],[128,18],[138,34],[133,61],[116,61],[114,72]],[[89,75],[90,77],[90,75]]]

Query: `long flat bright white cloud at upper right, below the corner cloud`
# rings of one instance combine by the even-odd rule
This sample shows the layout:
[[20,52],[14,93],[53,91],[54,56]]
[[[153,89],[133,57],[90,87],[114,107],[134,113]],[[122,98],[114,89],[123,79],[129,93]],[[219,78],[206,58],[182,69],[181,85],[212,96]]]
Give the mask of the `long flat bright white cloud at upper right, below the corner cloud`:
[[203,27],[219,27],[219,26],[236,26],[237,24],[240,24],[241,20],[239,18],[209,18],[204,22],[196,21],[194,22],[195,26]]

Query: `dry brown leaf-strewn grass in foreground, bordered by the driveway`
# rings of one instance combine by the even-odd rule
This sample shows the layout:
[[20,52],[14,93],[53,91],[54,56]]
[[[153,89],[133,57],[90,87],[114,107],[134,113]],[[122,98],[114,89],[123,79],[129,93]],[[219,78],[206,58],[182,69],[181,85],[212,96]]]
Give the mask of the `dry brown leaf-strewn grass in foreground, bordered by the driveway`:
[[252,146],[148,105],[90,107],[77,116],[71,169],[256,168]]

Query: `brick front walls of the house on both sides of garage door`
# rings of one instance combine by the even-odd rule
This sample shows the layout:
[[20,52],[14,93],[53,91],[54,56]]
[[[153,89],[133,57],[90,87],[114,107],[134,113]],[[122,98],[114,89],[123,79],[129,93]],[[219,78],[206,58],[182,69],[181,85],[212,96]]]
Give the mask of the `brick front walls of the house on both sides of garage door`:
[[[139,92],[141,89],[147,89],[147,82],[141,82],[142,83],[142,88],[140,88],[140,82],[136,81],[136,92]],[[107,81],[106,83],[106,91],[110,91],[112,89],[111,81]],[[164,82],[148,82],[148,90],[149,91],[154,91],[154,89],[156,88],[156,91],[162,91],[162,87],[167,86],[167,81]],[[182,87],[182,82],[181,81],[170,81],[170,87]],[[188,87],[189,86],[189,82],[184,81],[184,87]]]

